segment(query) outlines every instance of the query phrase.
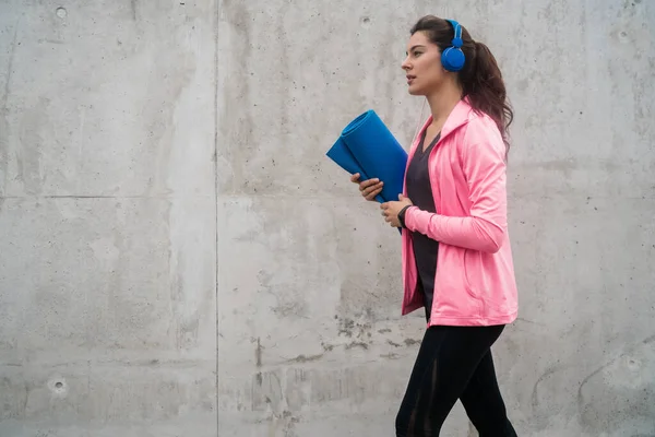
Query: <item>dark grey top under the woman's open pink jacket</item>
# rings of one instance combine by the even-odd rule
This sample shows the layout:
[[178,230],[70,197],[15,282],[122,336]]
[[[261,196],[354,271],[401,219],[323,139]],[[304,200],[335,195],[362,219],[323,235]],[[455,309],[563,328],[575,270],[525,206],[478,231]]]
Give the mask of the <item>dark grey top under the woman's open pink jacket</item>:
[[[432,197],[432,186],[430,185],[428,158],[440,137],[441,132],[437,134],[424,152],[426,141],[426,132],[424,131],[420,143],[407,168],[407,196],[419,210],[431,213],[436,213],[437,210],[434,208],[434,198]],[[434,274],[437,273],[439,243],[418,232],[410,233],[410,238],[414,246],[416,268],[418,270],[418,287],[424,294],[426,319],[429,320],[434,295]]]

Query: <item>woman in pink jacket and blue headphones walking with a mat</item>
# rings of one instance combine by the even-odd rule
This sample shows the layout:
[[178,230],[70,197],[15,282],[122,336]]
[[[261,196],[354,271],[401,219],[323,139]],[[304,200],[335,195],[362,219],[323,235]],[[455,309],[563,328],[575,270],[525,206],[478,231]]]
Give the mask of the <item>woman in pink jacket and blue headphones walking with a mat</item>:
[[[491,345],[516,318],[505,157],[512,110],[496,60],[454,21],[420,19],[407,58],[409,94],[431,110],[409,151],[404,192],[381,204],[403,229],[402,314],[428,326],[396,416],[396,436],[438,436],[460,399],[483,437],[516,436]],[[359,184],[374,200],[384,181]]]

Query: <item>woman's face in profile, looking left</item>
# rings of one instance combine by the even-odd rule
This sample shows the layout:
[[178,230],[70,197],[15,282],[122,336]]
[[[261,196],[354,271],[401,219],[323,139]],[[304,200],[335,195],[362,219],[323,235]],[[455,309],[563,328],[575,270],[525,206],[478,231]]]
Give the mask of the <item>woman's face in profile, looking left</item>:
[[441,66],[441,50],[422,32],[416,32],[409,38],[402,68],[407,73],[412,95],[428,95],[439,90],[446,73]]

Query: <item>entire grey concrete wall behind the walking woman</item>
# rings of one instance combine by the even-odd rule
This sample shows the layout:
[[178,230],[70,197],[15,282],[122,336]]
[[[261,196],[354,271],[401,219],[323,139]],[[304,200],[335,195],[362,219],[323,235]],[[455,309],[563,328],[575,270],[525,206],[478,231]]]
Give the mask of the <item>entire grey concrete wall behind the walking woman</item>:
[[368,108],[408,144],[425,13],[516,110],[520,435],[655,435],[652,1],[217,1],[0,0],[0,436],[393,435],[424,323],[324,152]]

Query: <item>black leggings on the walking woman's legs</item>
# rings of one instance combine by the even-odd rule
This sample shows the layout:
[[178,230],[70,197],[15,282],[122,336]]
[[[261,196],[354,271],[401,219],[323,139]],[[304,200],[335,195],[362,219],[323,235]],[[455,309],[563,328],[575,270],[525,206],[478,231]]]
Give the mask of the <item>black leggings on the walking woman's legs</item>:
[[491,345],[504,326],[426,330],[396,416],[396,437],[437,437],[460,399],[480,437],[515,437],[496,380]]

